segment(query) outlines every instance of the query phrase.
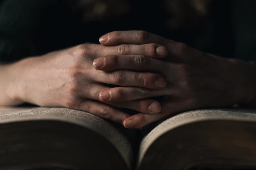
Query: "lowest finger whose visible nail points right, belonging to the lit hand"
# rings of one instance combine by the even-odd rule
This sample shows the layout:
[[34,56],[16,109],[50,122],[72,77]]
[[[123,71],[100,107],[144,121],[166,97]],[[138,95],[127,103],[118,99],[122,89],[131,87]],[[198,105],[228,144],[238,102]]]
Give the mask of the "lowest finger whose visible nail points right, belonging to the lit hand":
[[157,114],[161,111],[160,102],[153,99],[133,100],[128,102],[111,103],[114,106],[128,108],[147,114]]

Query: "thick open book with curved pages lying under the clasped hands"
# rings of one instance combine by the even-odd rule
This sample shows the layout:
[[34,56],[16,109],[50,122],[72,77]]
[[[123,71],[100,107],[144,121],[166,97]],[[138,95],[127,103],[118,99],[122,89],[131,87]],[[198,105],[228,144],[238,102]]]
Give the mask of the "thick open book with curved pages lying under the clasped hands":
[[135,155],[125,135],[91,113],[0,108],[1,170],[255,168],[256,110],[184,112],[157,125],[139,145]]

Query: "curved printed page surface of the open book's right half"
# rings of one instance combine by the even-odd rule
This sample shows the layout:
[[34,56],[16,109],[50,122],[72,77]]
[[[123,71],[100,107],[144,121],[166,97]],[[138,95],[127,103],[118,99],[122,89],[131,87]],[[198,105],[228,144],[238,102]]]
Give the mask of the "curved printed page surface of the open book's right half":
[[156,126],[141,142],[139,162],[141,163],[146,150],[162,134],[184,124],[203,120],[247,120],[256,121],[256,109],[198,109],[173,116]]

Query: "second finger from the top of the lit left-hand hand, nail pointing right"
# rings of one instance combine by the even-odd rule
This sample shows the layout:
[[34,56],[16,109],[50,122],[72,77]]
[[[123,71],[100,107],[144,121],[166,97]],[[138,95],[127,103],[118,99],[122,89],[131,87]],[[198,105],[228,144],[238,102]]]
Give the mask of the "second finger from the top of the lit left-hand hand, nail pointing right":
[[162,89],[166,80],[156,73],[140,73],[126,70],[102,72],[94,77],[95,81],[119,86],[145,87],[149,89]]

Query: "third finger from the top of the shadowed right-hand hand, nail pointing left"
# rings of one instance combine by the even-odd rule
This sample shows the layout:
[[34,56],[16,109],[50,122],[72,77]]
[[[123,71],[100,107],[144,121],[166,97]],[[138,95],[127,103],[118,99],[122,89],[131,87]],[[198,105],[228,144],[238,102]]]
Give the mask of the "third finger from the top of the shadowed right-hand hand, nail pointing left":
[[99,98],[102,102],[115,103],[164,96],[170,94],[170,91],[171,90],[167,91],[166,89],[147,89],[139,87],[115,87],[100,92]]

